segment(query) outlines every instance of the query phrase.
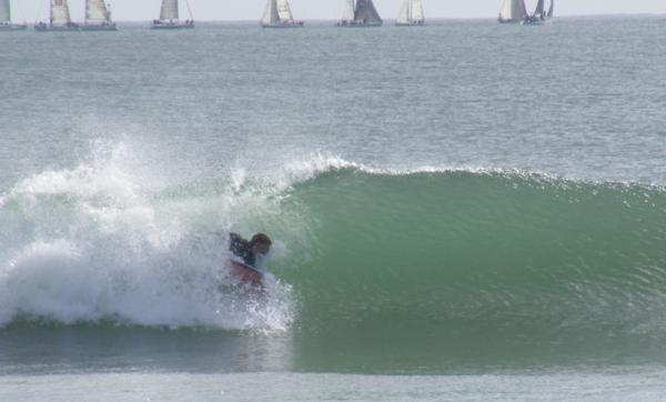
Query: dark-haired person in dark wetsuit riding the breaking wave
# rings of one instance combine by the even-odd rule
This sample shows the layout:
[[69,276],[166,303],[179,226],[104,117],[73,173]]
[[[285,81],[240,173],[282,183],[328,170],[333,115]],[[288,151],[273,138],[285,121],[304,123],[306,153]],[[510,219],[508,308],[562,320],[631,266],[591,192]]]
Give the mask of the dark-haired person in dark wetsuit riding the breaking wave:
[[271,251],[271,238],[263,233],[256,233],[250,241],[238,233],[229,234],[229,251],[232,257],[228,265],[231,273],[240,282],[263,288],[262,279],[266,271],[265,258]]

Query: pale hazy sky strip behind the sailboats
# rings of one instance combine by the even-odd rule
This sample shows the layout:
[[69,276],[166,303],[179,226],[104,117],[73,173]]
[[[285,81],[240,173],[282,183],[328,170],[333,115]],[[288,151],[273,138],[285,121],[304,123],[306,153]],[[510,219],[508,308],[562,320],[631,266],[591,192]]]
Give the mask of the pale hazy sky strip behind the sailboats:
[[[342,13],[342,0],[290,0],[297,19],[335,20]],[[394,19],[403,0],[374,0],[380,14]],[[117,21],[151,20],[160,12],[161,0],[108,0]],[[258,20],[266,0],[189,0],[196,20]],[[426,18],[495,18],[501,0],[423,0]],[[528,8],[536,0],[527,0]],[[49,0],[12,0],[16,19],[46,19]],[[69,0],[72,19],[83,19],[84,0]],[[181,1],[184,9],[184,0]],[[559,16],[663,13],[666,0],[556,0]],[[186,18],[186,14],[181,17]]]

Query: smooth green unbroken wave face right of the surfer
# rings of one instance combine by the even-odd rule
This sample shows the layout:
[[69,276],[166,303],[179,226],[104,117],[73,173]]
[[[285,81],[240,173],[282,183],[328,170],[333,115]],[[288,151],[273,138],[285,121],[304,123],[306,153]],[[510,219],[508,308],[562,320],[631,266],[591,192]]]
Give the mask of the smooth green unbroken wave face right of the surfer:
[[455,344],[666,338],[660,188],[344,168],[297,184],[284,208],[309,217],[310,239],[283,278],[302,294],[301,320],[322,332],[456,334]]

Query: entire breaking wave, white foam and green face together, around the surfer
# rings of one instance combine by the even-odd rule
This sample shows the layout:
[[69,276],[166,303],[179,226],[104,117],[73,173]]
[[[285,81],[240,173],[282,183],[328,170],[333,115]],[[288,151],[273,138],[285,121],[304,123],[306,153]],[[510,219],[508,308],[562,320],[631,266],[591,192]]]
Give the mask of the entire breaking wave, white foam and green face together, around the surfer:
[[[295,324],[504,345],[666,338],[660,188],[315,154],[154,189],[117,151],[2,194],[0,323]],[[220,291],[229,230],[278,240],[269,302]]]

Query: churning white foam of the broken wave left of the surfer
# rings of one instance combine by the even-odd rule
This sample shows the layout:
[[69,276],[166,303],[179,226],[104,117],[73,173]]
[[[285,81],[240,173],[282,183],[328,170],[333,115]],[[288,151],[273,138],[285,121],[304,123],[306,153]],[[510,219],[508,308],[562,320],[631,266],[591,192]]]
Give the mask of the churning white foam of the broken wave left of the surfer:
[[293,319],[287,285],[269,281],[258,300],[230,291],[223,269],[220,233],[238,223],[239,198],[252,195],[228,185],[203,201],[162,198],[162,189],[144,184],[155,180],[132,157],[125,143],[97,144],[79,167],[42,172],[2,194],[0,324],[20,314],[64,323],[286,329]]

